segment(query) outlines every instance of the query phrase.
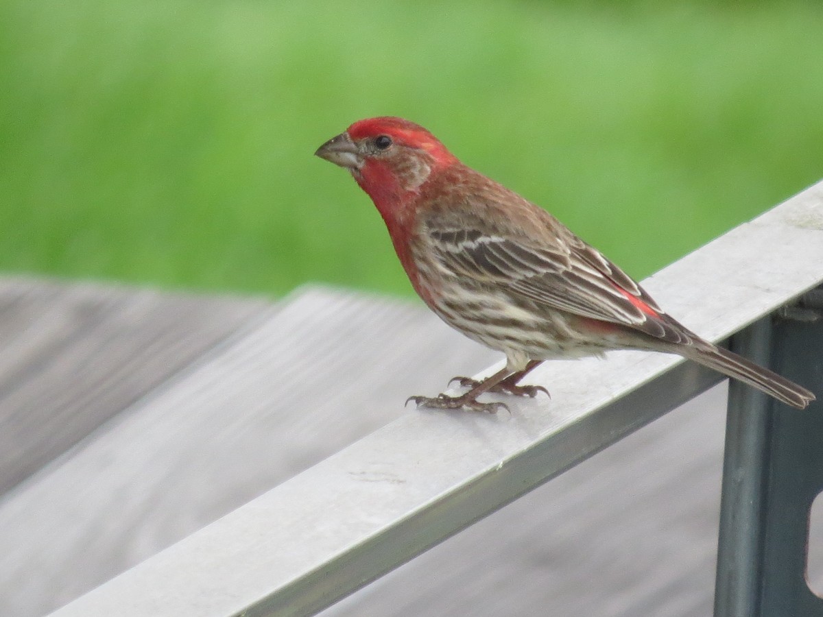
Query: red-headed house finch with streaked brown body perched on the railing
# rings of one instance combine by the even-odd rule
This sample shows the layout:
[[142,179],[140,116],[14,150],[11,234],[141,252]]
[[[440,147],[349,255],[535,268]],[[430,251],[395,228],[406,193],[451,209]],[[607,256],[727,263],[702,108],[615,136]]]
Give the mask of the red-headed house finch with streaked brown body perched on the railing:
[[546,392],[519,385],[543,360],[615,349],[679,354],[800,409],[815,399],[690,332],[554,216],[463,165],[415,123],[361,120],[316,154],[348,169],[371,197],[425,304],[506,355],[489,378],[453,379],[470,388],[462,396],[409,398],[418,406],[494,412],[505,406],[477,401],[483,392]]

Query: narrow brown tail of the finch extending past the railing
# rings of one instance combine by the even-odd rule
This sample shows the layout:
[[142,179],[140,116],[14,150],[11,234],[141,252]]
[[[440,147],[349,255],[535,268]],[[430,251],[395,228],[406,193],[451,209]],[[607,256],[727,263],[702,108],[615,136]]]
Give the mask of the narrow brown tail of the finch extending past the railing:
[[746,360],[742,355],[715,346],[700,346],[693,349],[695,353],[688,356],[691,360],[756,387],[786,405],[805,409],[815,400],[815,395],[805,387],[798,386],[797,383],[790,382],[787,378],[764,369],[751,360]]

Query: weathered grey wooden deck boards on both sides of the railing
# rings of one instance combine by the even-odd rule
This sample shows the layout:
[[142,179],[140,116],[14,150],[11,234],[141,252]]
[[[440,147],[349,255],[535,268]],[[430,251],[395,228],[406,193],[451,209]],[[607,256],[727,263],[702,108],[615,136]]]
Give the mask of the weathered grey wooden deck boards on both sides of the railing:
[[[0,615],[44,615],[495,360],[420,305],[328,288],[0,281]],[[323,615],[709,615],[724,396]]]

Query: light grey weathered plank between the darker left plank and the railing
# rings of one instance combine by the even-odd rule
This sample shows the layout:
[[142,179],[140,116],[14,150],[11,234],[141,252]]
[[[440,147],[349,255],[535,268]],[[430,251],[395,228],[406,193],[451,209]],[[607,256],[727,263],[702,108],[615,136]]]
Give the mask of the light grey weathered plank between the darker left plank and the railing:
[[56,608],[495,357],[419,306],[300,291],[0,502],[0,614]]

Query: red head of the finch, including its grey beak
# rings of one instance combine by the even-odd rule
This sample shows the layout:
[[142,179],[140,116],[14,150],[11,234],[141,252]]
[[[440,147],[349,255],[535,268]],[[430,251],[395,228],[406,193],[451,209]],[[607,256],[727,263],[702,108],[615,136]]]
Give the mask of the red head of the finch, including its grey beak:
[[360,120],[315,153],[351,171],[384,216],[416,195],[430,174],[457,159],[419,124],[390,116]]

